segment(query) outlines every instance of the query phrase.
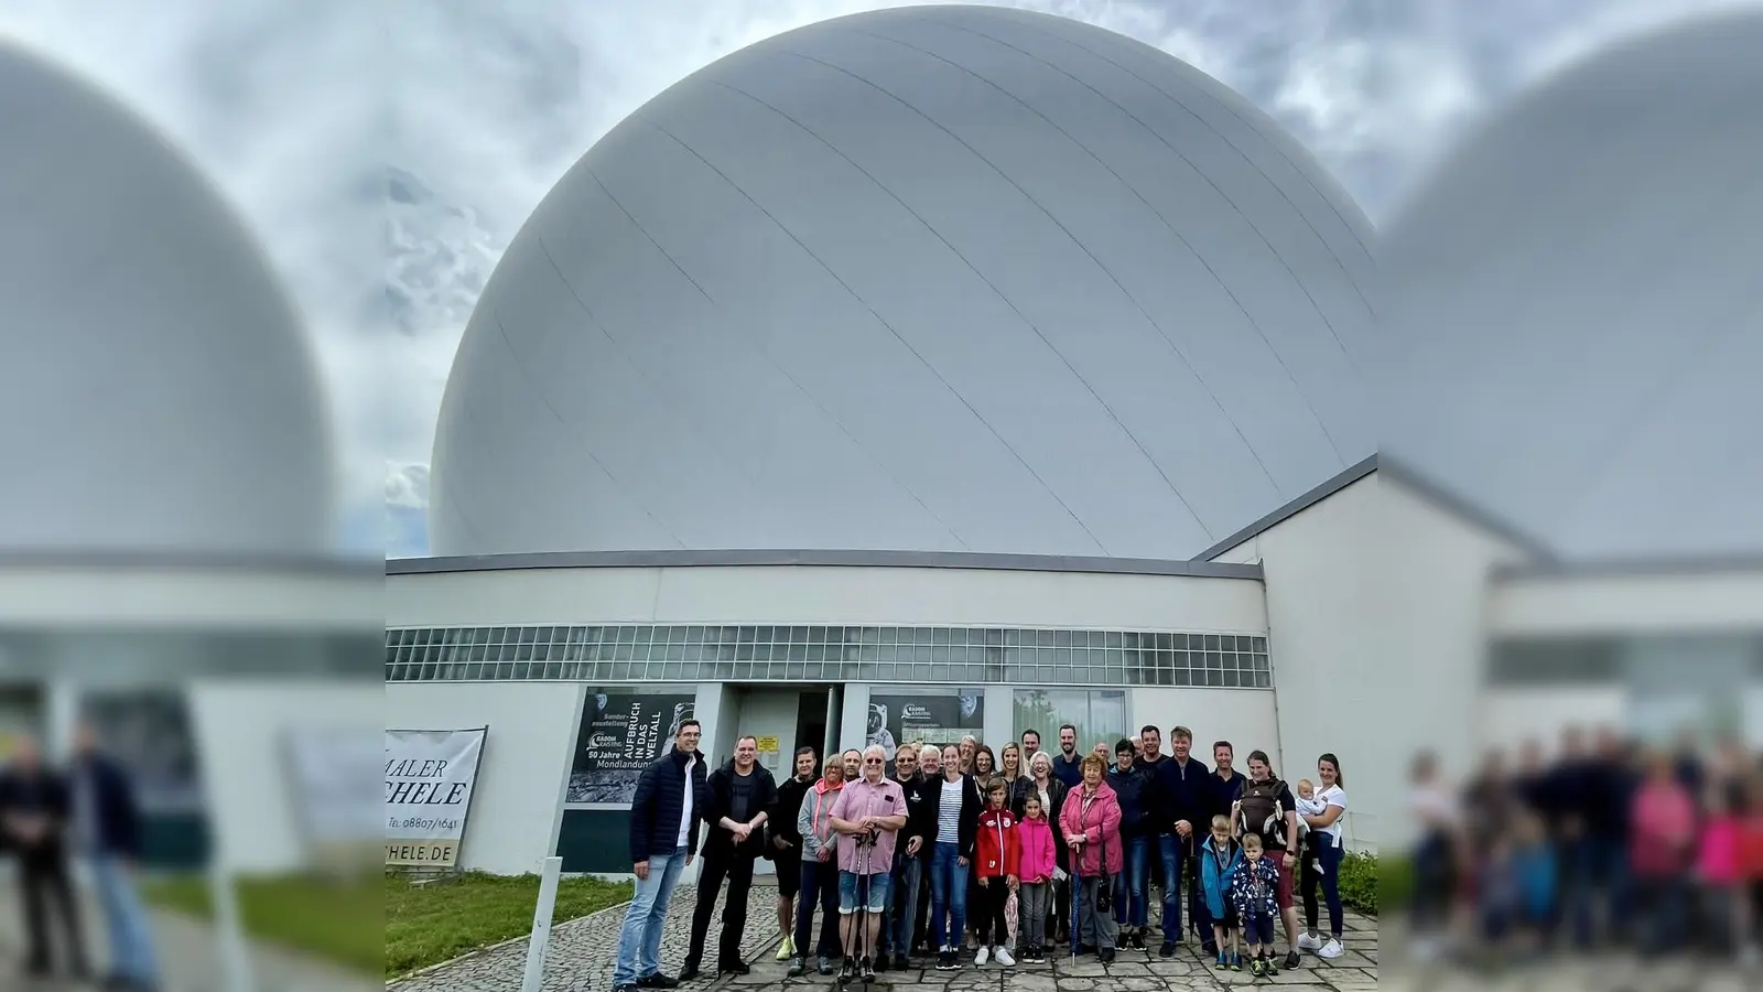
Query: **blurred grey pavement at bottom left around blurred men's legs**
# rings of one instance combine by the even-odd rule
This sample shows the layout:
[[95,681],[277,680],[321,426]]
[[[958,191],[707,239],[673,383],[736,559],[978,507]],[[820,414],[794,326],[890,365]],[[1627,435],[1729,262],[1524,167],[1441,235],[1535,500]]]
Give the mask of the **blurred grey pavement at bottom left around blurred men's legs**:
[[[220,944],[213,927],[176,913],[155,911],[152,916],[153,946],[159,950],[159,964],[164,971],[164,992],[234,992],[224,983]],[[90,897],[83,898],[79,920],[86,937],[88,960],[102,971],[108,955],[104,916]],[[23,966],[23,906],[19,906],[11,872],[0,867],[0,990],[72,992],[93,988],[69,980],[26,981],[21,978]],[[254,992],[358,992],[381,985],[358,973],[342,971],[273,946],[254,946],[250,966],[256,978]]]

